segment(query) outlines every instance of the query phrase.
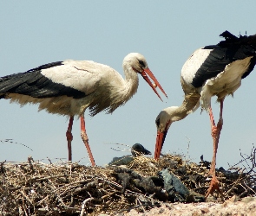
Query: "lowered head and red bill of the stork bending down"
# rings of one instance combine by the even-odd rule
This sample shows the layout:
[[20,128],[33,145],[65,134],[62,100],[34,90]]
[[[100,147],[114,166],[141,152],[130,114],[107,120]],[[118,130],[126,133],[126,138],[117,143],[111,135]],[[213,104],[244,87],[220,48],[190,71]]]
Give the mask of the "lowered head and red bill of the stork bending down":
[[177,115],[178,109],[178,106],[167,107],[166,109],[162,110],[155,119],[157,136],[154,149],[154,159],[156,160],[159,159],[161,155],[161,149],[171,124],[175,121],[181,120],[181,118],[179,118]]

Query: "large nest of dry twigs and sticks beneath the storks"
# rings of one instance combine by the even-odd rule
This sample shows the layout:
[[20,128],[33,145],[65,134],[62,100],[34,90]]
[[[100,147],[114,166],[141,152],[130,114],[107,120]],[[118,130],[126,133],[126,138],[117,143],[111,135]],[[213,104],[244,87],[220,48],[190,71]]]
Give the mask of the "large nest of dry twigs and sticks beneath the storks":
[[[255,149],[244,159],[253,166],[217,170],[222,193],[212,194],[216,202],[234,194],[255,196]],[[181,190],[167,185],[171,175]],[[46,164],[29,157],[28,162],[1,162],[0,180],[1,215],[115,215],[131,209],[147,211],[163,202],[205,201],[210,178],[202,158],[196,164],[166,155],[157,162],[138,156],[126,166],[106,168],[75,162]]]

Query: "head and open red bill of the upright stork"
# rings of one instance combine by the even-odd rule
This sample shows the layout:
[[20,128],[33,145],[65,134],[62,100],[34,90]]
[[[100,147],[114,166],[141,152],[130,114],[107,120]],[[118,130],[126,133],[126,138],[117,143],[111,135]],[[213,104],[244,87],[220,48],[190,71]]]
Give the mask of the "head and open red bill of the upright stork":
[[[125,72],[129,71],[129,68],[132,68],[132,70],[135,73],[140,73],[141,76],[143,77],[143,79],[145,79],[148,82],[148,85],[151,86],[151,88],[154,90],[154,92],[156,93],[156,95],[159,98],[161,98],[161,97],[160,97],[159,93],[156,91],[157,86],[160,88],[161,92],[163,92],[163,94],[167,97],[166,92],[164,92],[160,83],[154,77],[154,74],[150,71],[150,69],[148,68],[147,60],[145,59],[145,57],[142,54],[138,54],[138,53],[128,54],[122,62],[122,67]],[[148,77],[154,81],[154,84],[150,81],[150,79]]]

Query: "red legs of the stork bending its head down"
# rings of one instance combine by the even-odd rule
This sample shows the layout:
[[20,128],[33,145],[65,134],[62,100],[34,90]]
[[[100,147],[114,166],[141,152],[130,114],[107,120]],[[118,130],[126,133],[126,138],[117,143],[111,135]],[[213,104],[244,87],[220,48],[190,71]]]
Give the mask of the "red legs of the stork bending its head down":
[[[216,173],[215,173],[215,166],[216,166],[217,149],[218,149],[218,144],[219,144],[219,140],[220,140],[220,131],[222,129],[222,124],[223,124],[223,118],[222,118],[223,101],[224,101],[224,98],[220,99],[220,119],[219,119],[217,126],[214,123],[212,108],[210,107],[210,109],[209,109],[209,116],[210,116],[210,121],[212,124],[212,137],[213,137],[213,160],[212,160],[211,169],[209,171],[209,174],[213,175],[213,179],[210,183],[210,187],[207,191],[206,197],[209,194],[212,194],[214,190],[218,190],[220,192],[219,181],[217,180]],[[220,192],[220,194],[221,194],[221,192]]]

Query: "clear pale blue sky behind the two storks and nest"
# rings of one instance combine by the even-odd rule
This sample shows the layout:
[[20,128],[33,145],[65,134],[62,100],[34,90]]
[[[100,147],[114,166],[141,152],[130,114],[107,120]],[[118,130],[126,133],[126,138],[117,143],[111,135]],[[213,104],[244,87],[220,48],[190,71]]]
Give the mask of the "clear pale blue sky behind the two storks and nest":
[[[181,67],[195,49],[218,43],[220,34],[256,34],[256,1],[2,1],[0,3],[0,76],[25,72],[56,60],[94,60],[121,73],[131,52],[143,54],[168,98],[163,102],[140,76],[138,92],[111,114],[94,118],[85,112],[89,144],[97,165],[118,152],[115,143],[141,143],[154,154],[154,120],[167,106],[181,105]],[[228,168],[250,154],[256,142],[256,71],[224,103],[217,168]],[[158,92],[160,90],[158,89]],[[216,121],[219,104],[212,99]],[[67,160],[68,118],[37,112],[37,105],[0,100],[0,161],[24,162],[28,156],[47,162]],[[89,164],[80,137],[80,121],[73,125],[73,161]],[[162,152],[179,153],[193,162],[212,160],[213,141],[206,111],[200,109],[168,130]],[[125,148],[124,146],[119,146]]]

